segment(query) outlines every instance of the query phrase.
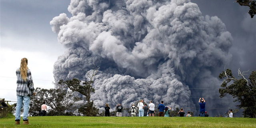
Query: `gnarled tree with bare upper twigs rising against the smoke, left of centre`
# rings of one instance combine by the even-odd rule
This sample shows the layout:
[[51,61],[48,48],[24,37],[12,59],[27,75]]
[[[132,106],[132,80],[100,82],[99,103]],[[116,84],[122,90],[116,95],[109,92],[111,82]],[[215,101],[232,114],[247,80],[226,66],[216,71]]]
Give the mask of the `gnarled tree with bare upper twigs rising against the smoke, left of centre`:
[[60,80],[58,82],[60,88],[69,88],[73,92],[79,92],[80,94],[85,96],[84,101],[86,104],[82,105],[78,112],[84,114],[84,116],[97,116],[99,110],[93,104],[93,100],[91,101],[91,93],[95,92],[95,89],[92,87],[92,78],[97,74],[100,67],[96,67],[94,64],[94,68],[92,72],[87,72],[87,76],[90,80],[82,82],[77,78],[73,78],[72,80]]

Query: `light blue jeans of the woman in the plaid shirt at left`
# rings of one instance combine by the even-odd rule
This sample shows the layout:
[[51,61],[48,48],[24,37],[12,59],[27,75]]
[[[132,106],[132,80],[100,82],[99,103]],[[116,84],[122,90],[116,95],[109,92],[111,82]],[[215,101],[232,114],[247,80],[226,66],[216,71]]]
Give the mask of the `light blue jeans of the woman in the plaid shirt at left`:
[[18,96],[17,95],[17,106],[16,106],[16,114],[15,120],[20,120],[20,110],[22,108],[22,102],[24,102],[23,106],[23,120],[28,120],[28,110],[29,110],[29,103],[30,103],[30,96]]

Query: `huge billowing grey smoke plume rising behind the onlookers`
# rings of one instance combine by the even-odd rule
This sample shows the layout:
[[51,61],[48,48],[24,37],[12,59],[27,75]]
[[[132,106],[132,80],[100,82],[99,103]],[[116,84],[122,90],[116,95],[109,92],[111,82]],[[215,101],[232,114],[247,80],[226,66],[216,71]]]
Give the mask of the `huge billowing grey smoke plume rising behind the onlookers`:
[[87,80],[86,71],[96,64],[95,104],[130,106],[144,99],[195,108],[193,95],[218,97],[188,88],[220,86],[212,72],[230,62],[233,38],[217,16],[202,16],[197,4],[71,0],[68,11],[72,17],[63,13],[50,22],[67,48],[54,64],[54,78]]

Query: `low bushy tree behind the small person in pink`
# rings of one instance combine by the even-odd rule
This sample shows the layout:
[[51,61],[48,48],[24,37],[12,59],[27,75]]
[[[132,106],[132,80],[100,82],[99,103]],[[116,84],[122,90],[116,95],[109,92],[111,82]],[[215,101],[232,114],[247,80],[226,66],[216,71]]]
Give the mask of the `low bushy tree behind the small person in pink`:
[[48,110],[48,116],[71,116],[71,111],[76,109],[74,102],[77,100],[66,90],[36,88],[36,95],[30,100],[29,112],[32,116],[39,116],[44,101],[52,108]]

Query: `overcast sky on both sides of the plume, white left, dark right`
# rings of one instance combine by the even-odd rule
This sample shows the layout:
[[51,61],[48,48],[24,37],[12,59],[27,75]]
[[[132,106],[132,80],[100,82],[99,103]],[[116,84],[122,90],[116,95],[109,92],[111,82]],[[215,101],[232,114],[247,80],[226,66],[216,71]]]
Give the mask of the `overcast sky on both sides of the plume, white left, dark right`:
[[[256,17],[235,0],[191,0],[202,16],[218,16],[234,39],[232,61],[226,68],[234,73],[256,70]],[[16,101],[16,69],[28,58],[34,87],[54,88],[53,64],[65,48],[58,43],[50,21],[61,13],[71,14],[70,0],[1,0],[0,3],[0,98]],[[223,67],[224,69],[224,67]],[[216,70],[216,74],[220,70]]]

